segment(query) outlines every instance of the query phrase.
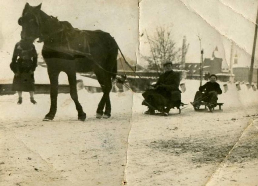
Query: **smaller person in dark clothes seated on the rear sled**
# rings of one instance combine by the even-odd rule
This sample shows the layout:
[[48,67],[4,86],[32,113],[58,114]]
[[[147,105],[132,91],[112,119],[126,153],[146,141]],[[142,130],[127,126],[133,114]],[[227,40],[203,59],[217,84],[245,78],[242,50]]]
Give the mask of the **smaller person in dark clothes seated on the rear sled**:
[[211,110],[217,106],[218,94],[222,94],[220,85],[216,82],[217,76],[210,75],[210,81],[199,87],[199,91],[194,96],[194,101],[191,102],[194,108],[199,108],[201,102],[207,102],[208,108]]

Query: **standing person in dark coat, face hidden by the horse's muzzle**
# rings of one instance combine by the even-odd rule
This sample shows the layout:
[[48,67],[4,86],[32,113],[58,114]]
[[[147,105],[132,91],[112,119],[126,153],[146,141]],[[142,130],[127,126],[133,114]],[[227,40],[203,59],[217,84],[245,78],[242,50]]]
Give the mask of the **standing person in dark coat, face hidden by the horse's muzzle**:
[[21,96],[23,91],[29,92],[31,103],[37,104],[34,100],[34,71],[37,67],[37,61],[38,55],[33,41],[21,39],[21,41],[16,43],[10,68],[15,74],[12,91],[18,92],[18,105],[22,103]]

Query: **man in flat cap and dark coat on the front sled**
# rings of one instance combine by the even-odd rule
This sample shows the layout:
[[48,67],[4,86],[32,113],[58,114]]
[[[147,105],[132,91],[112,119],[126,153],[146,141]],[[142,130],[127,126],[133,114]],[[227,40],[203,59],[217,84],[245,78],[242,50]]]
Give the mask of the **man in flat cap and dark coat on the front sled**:
[[180,74],[172,70],[172,63],[164,64],[165,73],[160,75],[154,89],[145,91],[142,96],[144,101],[142,105],[146,105],[148,110],[144,114],[155,114],[155,110],[168,115],[171,108],[178,108],[181,104],[181,91],[179,90]]

